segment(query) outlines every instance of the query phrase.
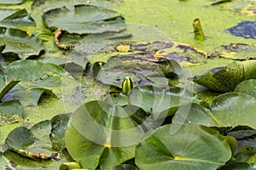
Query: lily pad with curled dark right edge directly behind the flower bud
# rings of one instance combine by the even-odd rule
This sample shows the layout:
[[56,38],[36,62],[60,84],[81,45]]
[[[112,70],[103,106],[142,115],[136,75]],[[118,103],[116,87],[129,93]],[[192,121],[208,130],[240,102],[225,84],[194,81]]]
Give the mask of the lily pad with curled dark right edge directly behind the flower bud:
[[[97,65],[97,63],[96,63]],[[102,67],[94,65],[94,77],[103,84],[121,88],[125,77],[131,77],[134,86],[154,84],[158,87],[168,86],[168,77],[177,75],[180,67],[177,62],[167,60],[159,64],[133,56],[117,56],[108,59]]]

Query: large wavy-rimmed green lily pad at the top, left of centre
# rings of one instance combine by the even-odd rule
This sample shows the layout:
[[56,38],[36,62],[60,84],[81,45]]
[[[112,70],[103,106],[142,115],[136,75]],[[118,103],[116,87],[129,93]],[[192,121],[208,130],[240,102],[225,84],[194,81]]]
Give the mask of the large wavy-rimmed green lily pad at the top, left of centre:
[[107,8],[90,5],[75,5],[74,10],[55,8],[44,13],[44,22],[50,29],[76,34],[119,32],[125,30],[122,16]]

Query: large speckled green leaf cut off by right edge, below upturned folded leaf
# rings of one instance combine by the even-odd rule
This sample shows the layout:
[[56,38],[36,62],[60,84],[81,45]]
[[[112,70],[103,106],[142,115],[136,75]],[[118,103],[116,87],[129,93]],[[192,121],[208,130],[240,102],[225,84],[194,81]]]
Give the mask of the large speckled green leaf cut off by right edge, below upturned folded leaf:
[[222,127],[246,125],[256,128],[256,99],[247,94],[222,94],[212,101],[212,115]]

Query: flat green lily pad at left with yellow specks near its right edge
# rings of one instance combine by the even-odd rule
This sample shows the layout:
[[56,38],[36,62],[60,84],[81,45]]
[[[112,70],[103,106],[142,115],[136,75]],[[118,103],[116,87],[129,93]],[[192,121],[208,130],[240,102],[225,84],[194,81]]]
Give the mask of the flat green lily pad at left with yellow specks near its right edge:
[[36,60],[18,60],[6,68],[7,77],[15,77],[26,88],[61,87],[61,77],[65,72],[60,66],[41,63]]

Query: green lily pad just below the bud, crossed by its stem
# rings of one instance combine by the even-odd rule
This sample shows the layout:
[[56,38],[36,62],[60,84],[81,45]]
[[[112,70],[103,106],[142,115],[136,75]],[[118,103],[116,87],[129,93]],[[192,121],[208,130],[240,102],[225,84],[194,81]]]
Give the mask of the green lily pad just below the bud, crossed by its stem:
[[[124,94],[112,94],[106,100],[113,105],[128,105],[127,96]],[[160,113],[167,116],[168,114],[164,111],[170,111],[170,114],[174,114],[178,106],[201,102],[197,95],[185,88],[164,89],[154,86],[132,88],[129,100],[131,105],[137,105],[144,111],[151,113],[152,119],[160,118]]]

